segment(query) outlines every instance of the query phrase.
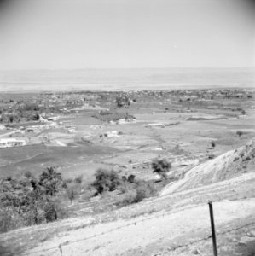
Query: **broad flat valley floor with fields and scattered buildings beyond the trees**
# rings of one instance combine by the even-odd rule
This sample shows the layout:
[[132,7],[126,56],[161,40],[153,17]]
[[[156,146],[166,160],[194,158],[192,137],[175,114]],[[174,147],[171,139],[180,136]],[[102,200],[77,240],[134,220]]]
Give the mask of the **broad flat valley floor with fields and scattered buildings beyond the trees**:
[[[108,168],[122,166],[122,172],[142,168],[157,157],[177,162],[214,158],[253,136],[253,96],[252,89],[3,94],[0,150],[15,150],[24,167],[2,158],[1,169],[26,172],[28,161],[36,170],[58,166],[68,176],[73,159],[65,163],[61,152],[74,154],[93,147],[110,155],[99,160],[95,152],[91,168],[100,163]],[[18,152],[23,156],[19,158]],[[75,165],[82,172],[87,160],[79,154]]]

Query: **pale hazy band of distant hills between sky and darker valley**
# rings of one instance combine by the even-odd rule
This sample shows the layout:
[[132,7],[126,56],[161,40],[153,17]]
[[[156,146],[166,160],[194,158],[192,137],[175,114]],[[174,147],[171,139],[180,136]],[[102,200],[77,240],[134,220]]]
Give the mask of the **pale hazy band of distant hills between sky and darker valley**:
[[138,68],[0,72],[0,91],[177,90],[255,85],[252,68]]

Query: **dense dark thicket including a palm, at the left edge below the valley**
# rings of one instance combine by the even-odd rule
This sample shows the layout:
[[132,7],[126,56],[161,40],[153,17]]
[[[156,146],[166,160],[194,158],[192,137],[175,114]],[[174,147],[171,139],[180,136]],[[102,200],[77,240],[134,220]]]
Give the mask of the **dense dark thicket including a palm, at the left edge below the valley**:
[[61,182],[61,173],[54,167],[48,167],[39,179],[30,172],[20,178],[3,178],[0,183],[0,232],[57,219],[60,202],[55,196]]

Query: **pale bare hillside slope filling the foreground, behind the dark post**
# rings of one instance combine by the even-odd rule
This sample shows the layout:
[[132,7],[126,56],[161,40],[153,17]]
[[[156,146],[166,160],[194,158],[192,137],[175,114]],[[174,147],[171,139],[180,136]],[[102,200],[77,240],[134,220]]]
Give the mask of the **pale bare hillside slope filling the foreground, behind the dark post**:
[[252,255],[252,155],[254,140],[194,167],[184,182],[171,184],[156,198],[90,218],[14,230],[0,241],[6,255],[20,255],[20,248],[23,255],[212,255],[210,200],[220,255]]

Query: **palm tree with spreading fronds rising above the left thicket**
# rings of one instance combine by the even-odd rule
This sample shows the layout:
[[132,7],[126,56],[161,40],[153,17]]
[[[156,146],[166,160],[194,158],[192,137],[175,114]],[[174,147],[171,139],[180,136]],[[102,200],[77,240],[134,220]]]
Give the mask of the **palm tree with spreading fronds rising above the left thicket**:
[[55,167],[49,166],[40,176],[40,184],[46,189],[46,194],[54,195],[58,192],[62,176],[55,171]]

